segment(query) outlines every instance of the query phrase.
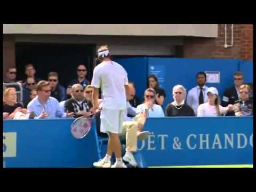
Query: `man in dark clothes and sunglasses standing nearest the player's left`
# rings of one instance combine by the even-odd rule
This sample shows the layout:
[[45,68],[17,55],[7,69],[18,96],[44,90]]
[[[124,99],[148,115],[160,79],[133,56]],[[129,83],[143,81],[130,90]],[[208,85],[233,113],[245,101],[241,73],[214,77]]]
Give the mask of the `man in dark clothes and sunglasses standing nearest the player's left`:
[[72,81],[69,82],[68,87],[67,87],[67,95],[70,95],[71,93],[71,87],[74,84],[80,83],[83,86],[83,89],[87,86],[90,85],[90,82],[86,79],[87,75],[87,68],[85,65],[81,64],[77,67],[76,69],[76,74],[77,78],[73,79]]

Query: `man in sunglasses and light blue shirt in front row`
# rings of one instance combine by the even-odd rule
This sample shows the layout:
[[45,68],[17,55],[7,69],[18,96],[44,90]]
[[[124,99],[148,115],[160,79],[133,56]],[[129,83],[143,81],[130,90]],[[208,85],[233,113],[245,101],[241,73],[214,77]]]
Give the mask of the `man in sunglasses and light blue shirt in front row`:
[[73,117],[74,113],[63,113],[59,101],[51,95],[49,82],[40,81],[36,85],[37,96],[28,103],[28,110],[34,111],[36,119]]

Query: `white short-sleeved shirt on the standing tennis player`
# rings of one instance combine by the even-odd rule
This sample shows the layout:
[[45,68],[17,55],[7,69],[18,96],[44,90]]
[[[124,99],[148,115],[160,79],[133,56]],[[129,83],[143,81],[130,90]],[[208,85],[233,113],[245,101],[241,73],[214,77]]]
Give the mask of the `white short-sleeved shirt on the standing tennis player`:
[[92,86],[100,88],[103,106],[111,110],[126,108],[124,85],[128,85],[125,69],[114,61],[103,61],[93,70]]

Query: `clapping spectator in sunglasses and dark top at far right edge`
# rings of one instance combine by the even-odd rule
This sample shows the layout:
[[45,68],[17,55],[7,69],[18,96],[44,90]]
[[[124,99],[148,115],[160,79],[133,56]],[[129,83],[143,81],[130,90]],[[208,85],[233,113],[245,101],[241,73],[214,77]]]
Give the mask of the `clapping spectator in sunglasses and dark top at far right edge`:
[[239,100],[235,101],[233,106],[236,116],[241,117],[253,115],[253,98],[249,97],[249,93],[249,85],[241,85],[239,87]]

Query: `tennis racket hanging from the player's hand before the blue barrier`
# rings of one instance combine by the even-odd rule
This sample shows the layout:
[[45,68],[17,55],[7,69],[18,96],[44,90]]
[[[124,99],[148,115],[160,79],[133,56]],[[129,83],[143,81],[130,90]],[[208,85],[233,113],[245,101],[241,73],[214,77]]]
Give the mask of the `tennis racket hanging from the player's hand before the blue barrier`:
[[91,130],[93,117],[78,117],[71,124],[71,134],[76,139],[84,138]]

